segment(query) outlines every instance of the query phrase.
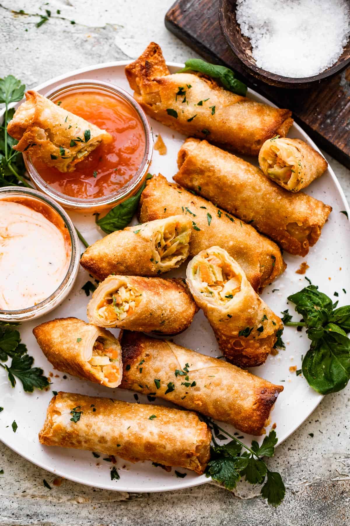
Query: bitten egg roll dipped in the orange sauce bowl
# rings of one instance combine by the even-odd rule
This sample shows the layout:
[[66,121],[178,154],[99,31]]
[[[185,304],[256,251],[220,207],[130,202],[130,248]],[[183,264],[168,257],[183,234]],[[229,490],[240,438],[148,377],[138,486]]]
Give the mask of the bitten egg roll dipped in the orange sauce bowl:
[[8,123],[7,131],[19,141],[14,149],[26,151],[33,159],[62,172],[72,171],[102,140],[112,140],[107,131],[33,90],[26,92],[26,99]]

